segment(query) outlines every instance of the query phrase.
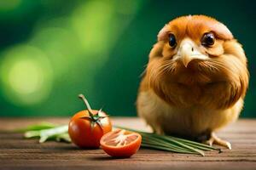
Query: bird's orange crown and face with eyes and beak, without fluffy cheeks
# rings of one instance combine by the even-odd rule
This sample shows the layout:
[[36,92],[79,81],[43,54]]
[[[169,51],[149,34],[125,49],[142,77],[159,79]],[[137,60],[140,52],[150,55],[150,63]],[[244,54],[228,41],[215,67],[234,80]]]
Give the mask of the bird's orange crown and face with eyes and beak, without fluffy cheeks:
[[205,15],[184,16],[172,20],[158,35],[163,57],[171,57],[188,68],[192,61],[204,61],[224,54],[223,42],[233,39],[222,23]]

